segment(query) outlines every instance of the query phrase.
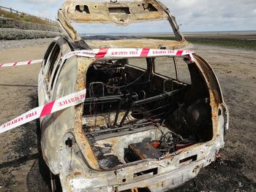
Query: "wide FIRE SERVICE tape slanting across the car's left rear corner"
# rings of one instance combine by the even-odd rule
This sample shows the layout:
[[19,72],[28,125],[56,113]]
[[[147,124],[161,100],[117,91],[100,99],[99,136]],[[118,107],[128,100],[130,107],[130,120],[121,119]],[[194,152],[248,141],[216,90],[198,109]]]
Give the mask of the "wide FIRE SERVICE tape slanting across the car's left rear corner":
[[86,89],[83,91],[78,91],[77,93],[72,93],[67,96],[61,97],[60,99],[56,99],[55,101],[51,101],[48,104],[45,104],[40,107],[36,107],[33,110],[23,113],[17,118],[10,120],[7,123],[4,123],[0,126],[0,134],[5,131],[9,131],[12,128],[21,126],[25,123],[29,123],[31,120],[35,120],[37,118],[42,118],[45,115],[50,115],[53,112],[57,112],[59,110],[64,110],[68,107],[75,106],[77,104],[81,104],[86,99]]

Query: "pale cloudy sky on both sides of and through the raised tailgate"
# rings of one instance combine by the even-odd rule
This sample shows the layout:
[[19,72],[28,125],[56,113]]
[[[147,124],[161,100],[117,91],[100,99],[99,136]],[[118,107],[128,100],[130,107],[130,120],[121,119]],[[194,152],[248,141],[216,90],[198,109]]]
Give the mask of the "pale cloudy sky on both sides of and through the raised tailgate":
[[[99,0],[100,1],[100,0]],[[109,1],[109,0],[108,0]],[[256,0],[160,0],[169,7],[181,31],[256,31]],[[56,12],[64,0],[0,0],[0,5],[12,7],[20,12],[27,12],[42,18],[56,18]],[[132,26],[134,32],[145,30],[146,25]],[[87,31],[85,26],[78,26],[78,32],[91,33],[100,26],[91,26]],[[165,32],[166,23],[146,29]],[[116,28],[107,26],[108,33]],[[134,30],[134,29],[129,29]]]

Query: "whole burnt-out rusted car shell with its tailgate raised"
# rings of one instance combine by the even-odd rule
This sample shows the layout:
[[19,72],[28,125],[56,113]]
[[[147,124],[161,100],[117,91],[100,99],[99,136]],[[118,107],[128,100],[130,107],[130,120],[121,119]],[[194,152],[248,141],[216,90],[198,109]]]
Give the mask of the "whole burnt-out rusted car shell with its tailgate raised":
[[[225,144],[228,111],[214,71],[199,55],[181,63],[175,56],[61,61],[72,50],[99,47],[186,48],[167,7],[156,0],[65,1],[58,20],[68,37],[45,53],[39,105],[87,90],[83,104],[40,118],[42,155],[62,191],[168,191],[215,160]],[[70,23],[143,20],[168,20],[176,41],[84,40]],[[174,77],[164,68],[171,63]],[[189,82],[179,78],[182,66]]]

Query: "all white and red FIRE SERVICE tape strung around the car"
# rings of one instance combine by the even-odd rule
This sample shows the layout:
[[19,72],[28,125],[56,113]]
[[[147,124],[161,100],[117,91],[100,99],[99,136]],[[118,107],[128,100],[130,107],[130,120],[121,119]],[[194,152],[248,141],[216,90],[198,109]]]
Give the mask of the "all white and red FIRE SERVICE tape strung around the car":
[[[189,56],[191,61],[194,61],[193,52],[191,50],[153,50],[153,49],[112,49],[112,48],[102,48],[96,50],[76,50],[70,53],[67,53],[62,58],[62,63],[67,59],[71,58],[74,55],[88,58],[146,58],[146,57],[160,57],[160,56]],[[10,64],[0,64],[0,67],[4,66],[21,66],[21,65],[30,65],[37,64],[42,62],[42,59],[33,60],[33,61],[23,61],[23,62],[14,62]],[[23,113],[23,115],[18,116],[13,120],[10,120],[7,123],[4,123],[0,126],[0,134],[8,131],[12,128],[21,126],[25,123],[29,123],[31,120],[41,118],[45,115],[49,115],[53,112],[59,110],[64,110],[67,107],[75,106],[77,104],[83,103],[86,98],[86,90],[79,91],[77,93],[69,94],[64,96],[56,101],[51,101],[44,106],[36,107],[29,112]]]

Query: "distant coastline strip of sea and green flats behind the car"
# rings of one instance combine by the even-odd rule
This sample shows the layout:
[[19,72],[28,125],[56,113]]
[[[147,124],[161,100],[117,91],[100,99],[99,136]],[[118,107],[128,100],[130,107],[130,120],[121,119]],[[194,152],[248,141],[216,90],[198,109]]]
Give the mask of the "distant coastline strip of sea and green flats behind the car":
[[[231,47],[244,50],[256,50],[256,31],[199,31],[199,32],[184,32],[184,36],[188,42],[192,44]],[[159,34],[86,34],[82,35],[85,39],[97,37],[96,39],[108,37],[114,38],[148,38],[148,39],[163,39],[175,40],[174,34],[159,33]],[[122,39],[122,38],[121,38]]]

